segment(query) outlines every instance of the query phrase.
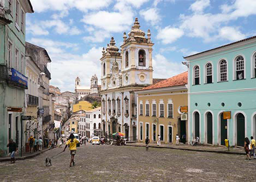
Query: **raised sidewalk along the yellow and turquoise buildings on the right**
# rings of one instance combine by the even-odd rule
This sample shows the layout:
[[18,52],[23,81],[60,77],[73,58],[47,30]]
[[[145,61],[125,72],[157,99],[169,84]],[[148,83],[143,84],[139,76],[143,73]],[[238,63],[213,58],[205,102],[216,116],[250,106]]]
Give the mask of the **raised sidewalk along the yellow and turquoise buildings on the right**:
[[[137,142],[137,143],[127,143],[127,146],[132,147],[145,147],[145,143]],[[211,145],[188,145],[180,143],[179,145],[175,144],[162,144],[157,146],[156,143],[150,143],[148,147],[151,148],[167,148],[167,149],[176,149],[176,150],[189,150],[189,151],[201,151],[201,152],[210,152],[210,153],[219,153],[219,154],[235,154],[235,155],[245,155],[245,151],[243,148],[229,148],[227,147],[214,147]]]

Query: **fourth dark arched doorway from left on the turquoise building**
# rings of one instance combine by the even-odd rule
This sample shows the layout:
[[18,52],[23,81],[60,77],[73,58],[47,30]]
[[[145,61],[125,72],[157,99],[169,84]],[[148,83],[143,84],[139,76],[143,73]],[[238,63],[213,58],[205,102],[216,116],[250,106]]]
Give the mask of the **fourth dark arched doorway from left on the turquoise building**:
[[245,144],[245,116],[242,113],[236,116],[237,145],[243,147]]

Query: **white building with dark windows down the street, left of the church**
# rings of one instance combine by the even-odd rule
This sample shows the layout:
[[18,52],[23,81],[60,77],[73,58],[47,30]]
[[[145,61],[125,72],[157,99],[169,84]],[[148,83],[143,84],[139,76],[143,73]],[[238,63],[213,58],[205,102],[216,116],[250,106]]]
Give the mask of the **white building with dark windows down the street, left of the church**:
[[86,137],[100,136],[102,131],[101,118],[101,107],[81,114],[78,123],[78,133]]

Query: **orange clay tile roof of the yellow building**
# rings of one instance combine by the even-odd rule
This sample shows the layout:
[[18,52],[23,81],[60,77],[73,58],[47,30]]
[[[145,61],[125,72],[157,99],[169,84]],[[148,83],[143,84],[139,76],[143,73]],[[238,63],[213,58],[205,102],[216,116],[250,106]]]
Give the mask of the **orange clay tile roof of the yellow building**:
[[182,72],[182,74],[178,74],[168,79],[152,84],[151,86],[145,87],[142,90],[184,86],[185,84],[188,84],[188,71]]

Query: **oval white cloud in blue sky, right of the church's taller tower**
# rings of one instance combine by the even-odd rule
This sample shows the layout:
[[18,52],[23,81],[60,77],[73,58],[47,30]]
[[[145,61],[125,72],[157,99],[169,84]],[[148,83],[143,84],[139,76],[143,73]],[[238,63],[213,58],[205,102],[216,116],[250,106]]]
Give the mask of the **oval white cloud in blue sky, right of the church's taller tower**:
[[181,38],[184,32],[180,28],[174,28],[171,26],[159,29],[157,39],[160,39],[163,44],[173,43],[178,38]]

